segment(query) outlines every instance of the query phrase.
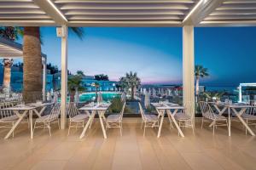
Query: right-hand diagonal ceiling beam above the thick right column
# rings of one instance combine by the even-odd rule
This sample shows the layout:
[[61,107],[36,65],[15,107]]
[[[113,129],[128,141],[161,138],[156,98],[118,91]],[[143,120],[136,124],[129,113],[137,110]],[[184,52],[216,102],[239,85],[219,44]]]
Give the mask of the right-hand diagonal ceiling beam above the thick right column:
[[224,0],[200,0],[189,14],[183,20],[184,25],[197,26],[216,8],[218,8]]

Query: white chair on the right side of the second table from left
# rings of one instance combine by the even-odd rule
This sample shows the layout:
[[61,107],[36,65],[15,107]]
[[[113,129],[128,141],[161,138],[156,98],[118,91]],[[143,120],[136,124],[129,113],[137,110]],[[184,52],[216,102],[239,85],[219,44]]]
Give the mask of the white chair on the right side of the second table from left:
[[123,129],[122,121],[123,121],[123,116],[124,116],[124,111],[125,111],[125,104],[126,104],[126,102],[124,102],[122,110],[119,114],[112,114],[107,117],[106,130],[108,130],[108,128],[120,128],[121,136],[122,136],[122,129]]

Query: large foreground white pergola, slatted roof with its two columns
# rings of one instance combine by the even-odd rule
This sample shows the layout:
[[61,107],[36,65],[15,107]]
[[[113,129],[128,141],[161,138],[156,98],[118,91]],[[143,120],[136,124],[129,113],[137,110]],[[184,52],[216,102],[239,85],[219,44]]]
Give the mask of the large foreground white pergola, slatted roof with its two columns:
[[194,27],[256,26],[256,0],[2,0],[0,25],[61,26],[63,129],[68,26],[183,27],[183,101],[194,101]]

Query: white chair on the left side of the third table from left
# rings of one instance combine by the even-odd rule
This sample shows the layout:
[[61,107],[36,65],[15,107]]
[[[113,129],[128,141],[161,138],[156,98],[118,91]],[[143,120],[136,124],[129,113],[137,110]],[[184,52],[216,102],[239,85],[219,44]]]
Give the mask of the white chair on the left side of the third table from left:
[[143,107],[140,103],[139,108],[140,108],[140,113],[142,115],[142,125],[141,128],[143,128],[143,123],[144,123],[144,133],[143,136],[145,136],[146,132],[146,127],[159,127],[159,119],[158,116],[154,114],[145,114]]

